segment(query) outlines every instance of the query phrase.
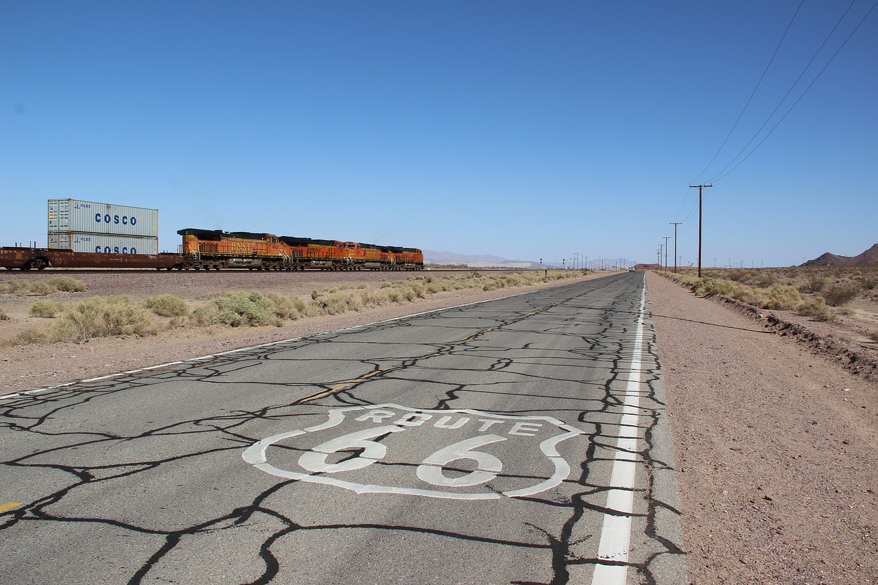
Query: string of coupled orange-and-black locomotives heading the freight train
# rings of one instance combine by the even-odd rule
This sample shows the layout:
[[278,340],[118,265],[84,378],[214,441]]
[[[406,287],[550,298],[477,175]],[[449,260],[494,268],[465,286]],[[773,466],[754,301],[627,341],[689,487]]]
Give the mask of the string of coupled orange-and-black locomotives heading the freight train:
[[424,255],[417,248],[195,228],[181,229],[177,234],[183,236],[178,267],[183,270],[420,271],[424,267]]

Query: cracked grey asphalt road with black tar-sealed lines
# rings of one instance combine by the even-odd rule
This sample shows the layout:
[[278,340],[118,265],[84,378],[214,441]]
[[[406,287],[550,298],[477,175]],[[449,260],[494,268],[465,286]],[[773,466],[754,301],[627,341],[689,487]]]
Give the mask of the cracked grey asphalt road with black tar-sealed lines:
[[0,574],[687,582],[664,403],[642,273],[6,398]]

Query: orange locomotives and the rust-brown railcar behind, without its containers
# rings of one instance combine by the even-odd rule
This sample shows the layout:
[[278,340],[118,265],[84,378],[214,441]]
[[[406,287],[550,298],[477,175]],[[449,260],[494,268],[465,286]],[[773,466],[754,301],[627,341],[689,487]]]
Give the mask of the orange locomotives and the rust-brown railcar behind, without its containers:
[[316,269],[420,271],[424,255],[417,248],[379,246],[361,242],[313,240],[251,232],[187,227],[179,253],[131,254],[124,249],[101,248],[94,252],[71,249],[0,248],[0,267],[43,270],[55,268],[140,268],[155,270],[248,270],[304,271]]

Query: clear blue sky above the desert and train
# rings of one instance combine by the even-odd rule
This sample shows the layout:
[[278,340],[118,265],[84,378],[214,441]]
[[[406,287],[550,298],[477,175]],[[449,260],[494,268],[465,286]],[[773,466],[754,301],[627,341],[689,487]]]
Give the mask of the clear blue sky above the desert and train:
[[688,185],[712,181],[704,266],[856,255],[878,242],[878,9],[725,174],[874,0],[781,104],[851,4],[802,2],[735,126],[799,4],[4,0],[0,244],[45,246],[47,199],[72,198],[158,208],[167,250],[202,227],[654,262],[683,221],[688,264]]

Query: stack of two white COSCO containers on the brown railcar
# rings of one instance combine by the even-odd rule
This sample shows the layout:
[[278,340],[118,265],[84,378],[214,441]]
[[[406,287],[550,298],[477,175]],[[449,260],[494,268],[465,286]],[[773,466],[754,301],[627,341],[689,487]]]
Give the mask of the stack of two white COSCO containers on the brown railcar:
[[51,249],[158,254],[159,210],[79,199],[49,199]]

